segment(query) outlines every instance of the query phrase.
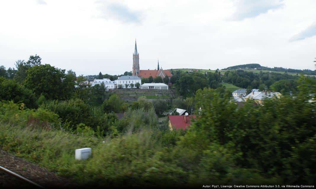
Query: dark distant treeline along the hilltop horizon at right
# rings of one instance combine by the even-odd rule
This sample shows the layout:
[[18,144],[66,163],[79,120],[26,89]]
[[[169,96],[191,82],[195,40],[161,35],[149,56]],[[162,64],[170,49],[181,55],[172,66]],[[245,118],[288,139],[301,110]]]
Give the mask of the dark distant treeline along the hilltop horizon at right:
[[296,73],[296,74],[307,74],[307,75],[316,75],[316,70],[310,70],[310,69],[291,69],[291,68],[282,68],[282,67],[274,67],[274,68],[268,68],[261,66],[260,64],[241,64],[236,66],[231,66],[228,68],[224,68],[222,70],[231,70],[231,69],[245,69],[245,68],[257,68],[261,70],[269,70],[269,71],[276,71],[276,72],[289,72],[289,73]]

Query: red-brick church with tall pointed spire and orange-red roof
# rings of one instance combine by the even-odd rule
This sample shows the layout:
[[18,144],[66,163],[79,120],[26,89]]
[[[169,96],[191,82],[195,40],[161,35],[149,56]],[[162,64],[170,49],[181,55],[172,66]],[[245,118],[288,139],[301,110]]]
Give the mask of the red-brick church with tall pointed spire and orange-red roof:
[[163,70],[162,67],[159,68],[159,61],[158,61],[158,66],[157,69],[154,70],[141,70],[139,68],[139,54],[137,52],[137,45],[136,45],[136,40],[135,40],[135,51],[133,54],[133,72],[132,72],[132,76],[138,76],[140,78],[149,78],[150,76],[152,76],[153,78],[160,76],[162,79],[165,76],[169,77],[169,81],[170,78],[172,76],[171,72],[169,70]]

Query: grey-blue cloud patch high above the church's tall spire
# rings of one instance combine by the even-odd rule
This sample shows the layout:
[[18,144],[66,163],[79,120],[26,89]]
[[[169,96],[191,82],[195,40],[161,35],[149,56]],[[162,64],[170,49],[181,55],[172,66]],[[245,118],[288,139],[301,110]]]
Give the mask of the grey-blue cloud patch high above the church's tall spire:
[[101,11],[101,18],[115,19],[122,22],[140,22],[140,12],[132,11],[127,6],[119,3],[107,3],[104,1],[96,2]]

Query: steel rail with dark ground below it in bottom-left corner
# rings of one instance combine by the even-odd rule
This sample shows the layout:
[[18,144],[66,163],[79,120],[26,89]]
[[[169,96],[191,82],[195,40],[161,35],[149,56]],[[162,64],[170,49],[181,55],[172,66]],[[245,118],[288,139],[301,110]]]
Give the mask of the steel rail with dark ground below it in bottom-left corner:
[[15,172],[0,166],[0,187],[14,187],[19,186],[23,188],[44,188],[35,182],[16,174]]

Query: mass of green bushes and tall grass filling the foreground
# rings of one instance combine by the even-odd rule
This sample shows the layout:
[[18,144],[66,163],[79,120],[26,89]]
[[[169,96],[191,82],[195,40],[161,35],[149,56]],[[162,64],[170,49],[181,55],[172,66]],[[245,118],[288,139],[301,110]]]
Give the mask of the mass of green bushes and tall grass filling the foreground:
[[[27,68],[21,82],[0,79],[0,91],[6,94],[1,94],[0,102],[0,147],[82,185],[314,182],[315,79],[228,72],[223,79],[243,84],[243,78],[249,77],[258,79],[256,85],[265,85],[261,87],[287,85],[281,89],[285,92],[295,89],[293,96],[285,93],[280,99],[265,99],[263,106],[248,101],[237,108],[230,103],[231,92],[220,85],[220,73],[175,73],[173,80],[185,100],[152,103],[143,96],[127,104],[116,94],[105,96],[102,85],[79,85],[72,93],[62,89],[61,97],[47,93],[60,86],[49,85],[43,92],[40,87],[28,89],[26,80],[33,80],[27,78],[40,67]],[[69,78],[75,75],[72,71],[67,74]],[[268,85],[276,78],[279,82]],[[62,86],[68,87],[63,82],[73,83],[68,81],[61,80]],[[45,87],[34,80],[36,83]],[[170,131],[157,116],[169,108],[193,111],[196,119],[186,131]],[[119,119],[116,113],[124,115]],[[76,161],[74,150],[83,147],[91,147],[92,156]]]

